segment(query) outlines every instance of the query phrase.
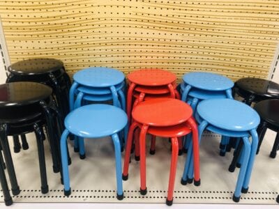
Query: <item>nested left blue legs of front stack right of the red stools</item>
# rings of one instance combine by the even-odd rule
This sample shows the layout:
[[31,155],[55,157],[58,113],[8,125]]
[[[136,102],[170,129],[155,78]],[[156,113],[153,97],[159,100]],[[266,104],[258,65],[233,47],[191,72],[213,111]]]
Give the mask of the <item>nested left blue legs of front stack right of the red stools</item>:
[[[208,125],[208,123],[206,121],[202,121],[202,123],[199,124],[198,127],[198,132],[199,132],[199,144],[200,141],[202,140],[202,132],[204,132],[204,129],[206,128],[206,126]],[[190,141],[190,146],[188,149],[188,154],[187,154],[187,160],[185,162],[185,166],[184,166],[184,171],[183,171],[183,176],[181,178],[181,184],[182,185],[186,185],[188,182],[188,179],[193,179],[193,174],[194,174],[194,169],[193,169],[193,143],[192,141]]]

